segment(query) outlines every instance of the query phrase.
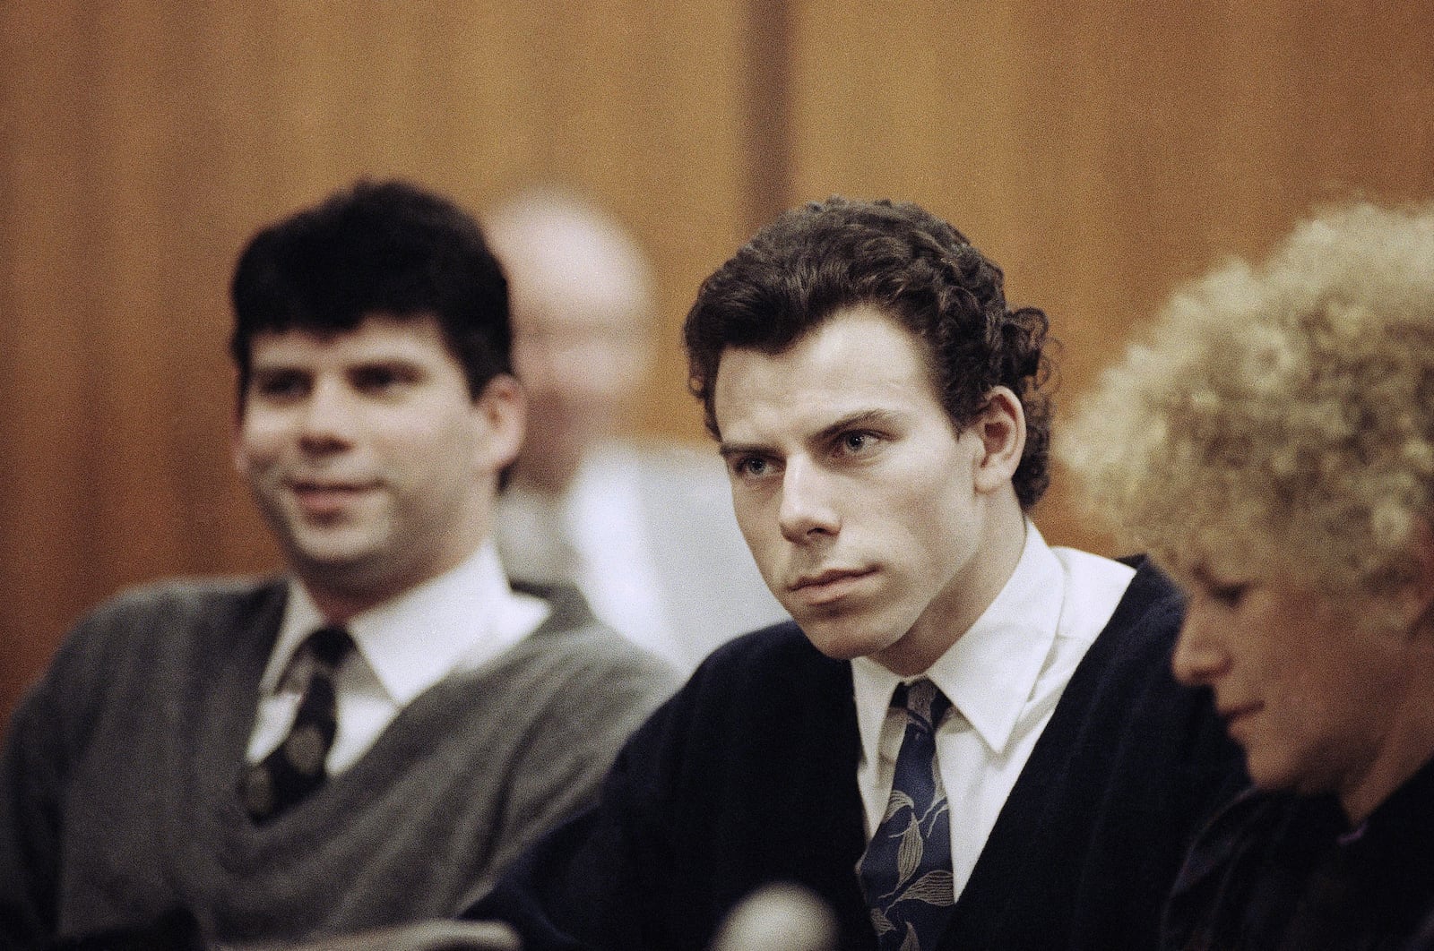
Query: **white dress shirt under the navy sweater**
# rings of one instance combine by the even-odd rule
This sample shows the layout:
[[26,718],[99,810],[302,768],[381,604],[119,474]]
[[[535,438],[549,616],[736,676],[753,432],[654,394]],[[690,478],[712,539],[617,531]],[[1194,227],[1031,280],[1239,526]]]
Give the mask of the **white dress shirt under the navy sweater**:
[[[1134,570],[1110,559],[1051,549],[1027,523],[1011,579],[985,613],[926,673],[952,703],[936,730],[936,761],[951,806],[951,868],[959,898],[997,815],[1051,719],[1086,650],[1104,629]],[[870,838],[886,811],[906,728],[892,710],[899,677],[869,657],[852,662],[862,762],[856,781]]]

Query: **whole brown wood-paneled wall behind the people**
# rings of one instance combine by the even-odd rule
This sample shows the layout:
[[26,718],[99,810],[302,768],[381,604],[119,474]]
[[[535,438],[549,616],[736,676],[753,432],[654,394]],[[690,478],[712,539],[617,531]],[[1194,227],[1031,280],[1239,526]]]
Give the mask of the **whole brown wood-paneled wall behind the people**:
[[[677,328],[779,208],[919,201],[1065,342],[1065,402],[1180,279],[1312,203],[1434,193],[1430,3],[0,3],[0,712],[87,606],[274,551],[231,473],[234,255],[358,175],[564,182]],[[1104,549],[1058,484],[1040,521]]]

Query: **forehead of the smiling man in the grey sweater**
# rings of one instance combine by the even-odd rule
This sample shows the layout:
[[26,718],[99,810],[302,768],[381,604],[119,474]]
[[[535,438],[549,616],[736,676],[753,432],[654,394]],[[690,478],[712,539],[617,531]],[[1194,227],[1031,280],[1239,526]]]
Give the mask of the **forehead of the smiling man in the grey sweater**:
[[267,365],[404,359],[443,362],[450,355],[437,318],[373,314],[347,331],[264,331],[251,342],[251,362]]

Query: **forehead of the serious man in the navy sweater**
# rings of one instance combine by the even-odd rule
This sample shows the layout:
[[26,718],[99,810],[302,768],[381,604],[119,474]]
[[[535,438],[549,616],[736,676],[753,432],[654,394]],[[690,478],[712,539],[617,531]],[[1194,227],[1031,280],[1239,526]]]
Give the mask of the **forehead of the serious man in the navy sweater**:
[[780,354],[723,352],[713,411],[724,441],[817,431],[869,411],[945,415],[921,342],[870,305],[837,311]]

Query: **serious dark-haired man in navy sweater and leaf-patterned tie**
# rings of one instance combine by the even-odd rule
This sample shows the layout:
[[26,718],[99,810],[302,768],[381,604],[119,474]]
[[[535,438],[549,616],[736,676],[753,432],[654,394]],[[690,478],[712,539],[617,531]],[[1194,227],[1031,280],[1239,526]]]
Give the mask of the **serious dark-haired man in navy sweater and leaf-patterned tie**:
[[1051,549],[1045,315],[915,205],[780,216],[701,286],[691,385],[793,616],[713,653],[473,917],[707,948],[776,881],[842,948],[1147,948],[1238,755],[1174,589]]

